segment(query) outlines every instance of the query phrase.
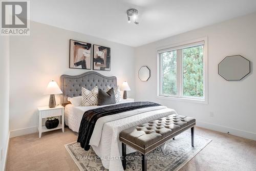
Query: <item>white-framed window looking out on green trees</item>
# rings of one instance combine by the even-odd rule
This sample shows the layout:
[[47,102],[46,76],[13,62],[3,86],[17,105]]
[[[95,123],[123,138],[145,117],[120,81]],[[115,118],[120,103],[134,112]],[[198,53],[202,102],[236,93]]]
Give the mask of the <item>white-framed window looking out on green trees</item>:
[[207,38],[158,51],[159,97],[207,102]]

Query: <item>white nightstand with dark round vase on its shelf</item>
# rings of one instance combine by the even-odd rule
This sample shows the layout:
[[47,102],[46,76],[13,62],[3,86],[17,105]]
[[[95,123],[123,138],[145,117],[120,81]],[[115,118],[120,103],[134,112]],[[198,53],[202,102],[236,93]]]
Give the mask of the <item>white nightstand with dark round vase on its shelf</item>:
[[[41,138],[42,133],[62,129],[64,132],[64,107],[62,105],[57,105],[55,108],[49,108],[48,106],[40,107],[38,109],[39,114],[39,124],[38,124],[38,132],[39,138]],[[42,119],[48,117],[61,116],[61,122],[55,129],[47,129],[46,126],[42,126]]]

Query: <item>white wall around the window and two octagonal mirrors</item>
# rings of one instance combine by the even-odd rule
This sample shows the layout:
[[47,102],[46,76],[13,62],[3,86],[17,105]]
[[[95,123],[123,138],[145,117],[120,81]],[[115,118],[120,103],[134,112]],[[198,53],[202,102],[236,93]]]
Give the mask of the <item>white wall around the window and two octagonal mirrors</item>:
[[[198,125],[256,140],[256,73],[242,81],[226,81],[218,75],[218,63],[229,55],[240,54],[256,63],[256,13],[137,47],[136,100],[151,100],[175,109],[178,114],[195,117]],[[200,21],[199,21],[200,22]],[[172,28],[170,28],[172,29]],[[208,104],[157,98],[156,48],[208,36]],[[138,79],[138,70],[151,69],[147,82]],[[210,117],[214,112],[214,117]]]

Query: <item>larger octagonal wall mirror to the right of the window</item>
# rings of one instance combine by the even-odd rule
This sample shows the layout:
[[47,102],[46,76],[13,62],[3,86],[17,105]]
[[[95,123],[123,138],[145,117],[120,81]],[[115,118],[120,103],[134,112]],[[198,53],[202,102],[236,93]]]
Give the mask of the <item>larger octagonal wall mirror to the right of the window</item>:
[[250,61],[241,55],[227,56],[219,63],[218,72],[225,80],[241,80],[251,72]]

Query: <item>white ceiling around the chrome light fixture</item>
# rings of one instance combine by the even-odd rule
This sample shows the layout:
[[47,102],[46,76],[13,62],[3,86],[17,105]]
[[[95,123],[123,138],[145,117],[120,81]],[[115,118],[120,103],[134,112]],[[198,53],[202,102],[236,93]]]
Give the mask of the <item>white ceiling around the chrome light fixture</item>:
[[[127,23],[129,8],[138,26]],[[255,0],[31,0],[35,22],[133,47],[254,11]]]

